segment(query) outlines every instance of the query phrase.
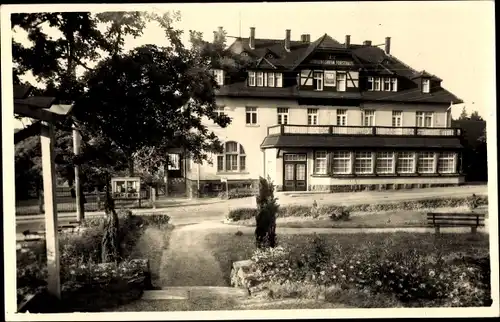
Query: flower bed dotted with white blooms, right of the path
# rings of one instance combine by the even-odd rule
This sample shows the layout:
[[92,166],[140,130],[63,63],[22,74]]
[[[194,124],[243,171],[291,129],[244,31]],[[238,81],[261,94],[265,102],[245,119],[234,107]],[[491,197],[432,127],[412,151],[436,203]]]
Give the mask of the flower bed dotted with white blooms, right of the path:
[[491,305],[487,235],[417,235],[282,236],[281,246],[254,251],[234,269],[232,284],[273,298],[335,302],[343,290],[387,300],[375,307]]

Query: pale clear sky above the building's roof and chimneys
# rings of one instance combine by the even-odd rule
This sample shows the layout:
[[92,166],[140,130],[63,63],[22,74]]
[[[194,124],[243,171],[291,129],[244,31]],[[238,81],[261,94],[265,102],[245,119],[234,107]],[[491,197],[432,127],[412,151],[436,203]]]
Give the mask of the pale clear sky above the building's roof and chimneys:
[[[213,38],[218,26],[229,36],[248,37],[250,27],[256,38],[284,38],[291,29],[292,40],[310,34],[311,41],[327,33],[340,42],[351,35],[351,43],[371,40],[383,44],[391,37],[391,54],[414,69],[435,74],[442,86],[464,100],[453,107],[457,117],[462,106],[470,114],[478,111],[488,119],[495,106],[494,3],[492,1],[415,2],[307,2],[307,3],[197,3],[136,6],[91,5],[91,11],[179,10],[176,27],[203,32]],[[89,10],[89,5],[65,5],[18,11]],[[54,34],[55,35],[55,34]],[[165,44],[163,31],[147,26],[141,38],[126,40],[126,49],[143,44]],[[23,41],[22,34],[15,37]],[[231,38],[228,39],[231,42]],[[30,78],[28,78],[30,79]]]

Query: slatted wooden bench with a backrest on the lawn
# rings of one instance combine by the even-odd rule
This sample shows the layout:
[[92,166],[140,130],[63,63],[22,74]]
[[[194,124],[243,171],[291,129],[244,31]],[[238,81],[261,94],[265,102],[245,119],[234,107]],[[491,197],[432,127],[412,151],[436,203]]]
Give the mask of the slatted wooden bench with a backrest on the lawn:
[[477,232],[477,227],[484,227],[485,214],[483,213],[435,213],[427,214],[427,225],[434,227],[439,234],[441,227],[470,227],[471,232]]

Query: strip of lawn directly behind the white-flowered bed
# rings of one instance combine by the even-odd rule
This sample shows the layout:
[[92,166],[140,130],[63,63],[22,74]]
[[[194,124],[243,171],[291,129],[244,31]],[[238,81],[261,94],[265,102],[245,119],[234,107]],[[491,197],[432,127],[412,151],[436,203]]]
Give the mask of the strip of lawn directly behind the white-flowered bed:
[[[373,251],[384,254],[407,249],[417,249],[420,253],[434,254],[442,252],[446,258],[464,256],[488,256],[489,237],[486,234],[443,233],[356,233],[356,234],[318,234],[323,236],[329,249],[341,249],[345,254],[359,251]],[[292,246],[294,249],[307,249],[310,246],[310,234],[279,235],[278,243]],[[206,242],[219,262],[220,268],[229,285],[232,263],[249,259],[254,250],[254,236],[251,232],[240,236],[234,233],[212,233],[207,235]],[[358,296],[362,296],[358,295]],[[346,297],[347,301],[349,297]],[[340,303],[340,302],[337,302]],[[362,303],[366,303],[365,300]],[[390,301],[388,301],[390,303]],[[351,305],[349,303],[341,303]],[[356,307],[360,307],[357,303]],[[380,307],[380,306],[378,306]]]

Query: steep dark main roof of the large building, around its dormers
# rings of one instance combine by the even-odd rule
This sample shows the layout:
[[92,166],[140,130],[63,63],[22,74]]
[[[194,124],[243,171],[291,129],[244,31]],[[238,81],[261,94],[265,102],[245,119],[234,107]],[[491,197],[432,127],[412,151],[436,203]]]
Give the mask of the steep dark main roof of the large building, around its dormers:
[[[344,44],[338,42],[327,34],[324,34],[323,36],[312,42],[292,40],[290,41],[290,51],[287,51],[285,49],[284,39],[261,38],[255,39],[254,49],[251,49],[249,46],[249,38],[237,38],[233,42],[233,44],[231,44],[230,49],[235,53],[248,53],[250,57],[253,57],[255,59],[256,64],[254,66],[259,66],[259,68],[263,69],[276,68],[278,70],[294,71],[299,68],[301,64],[303,64],[307,60],[307,58],[310,57],[314,52],[328,51],[350,56],[354,60],[355,64],[360,67],[360,70],[373,72],[377,75],[387,75],[404,78],[408,82],[413,82],[414,84],[418,84],[418,79],[421,77],[429,77],[432,80],[441,82],[441,79],[439,77],[432,75],[426,71],[416,71],[393,55],[387,54],[379,47],[352,44],[349,46],[349,48],[346,48]],[[268,55],[269,53],[272,53],[275,58],[267,58],[266,55]],[[333,92],[328,92],[327,94],[302,94],[302,92],[305,91],[299,92],[297,90],[289,88],[249,88],[248,86],[246,86],[246,82],[242,81],[239,84],[229,84],[223,86],[218,94],[233,96],[249,95],[258,97],[260,96],[259,93],[261,93],[263,96],[286,97],[287,93],[291,93],[292,96],[289,96],[290,98],[299,97],[300,95],[312,95],[314,97],[316,97],[317,95],[337,95],[339,98],[342,97],[342,95],[333,94]],[[360,98],[363,100],[369,101],[423,102],[440,104],[463,103],[461,99],[453,95],[448,90],[442,88],[440,85],[431,93],[422,93],[422,91],[418,88],[406,89],[403,86],[400,86],[398,92],[396,93],[373,91],[362,92],[358,96],[360,96]]]

